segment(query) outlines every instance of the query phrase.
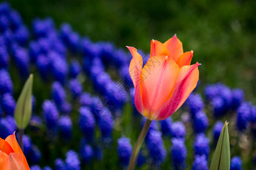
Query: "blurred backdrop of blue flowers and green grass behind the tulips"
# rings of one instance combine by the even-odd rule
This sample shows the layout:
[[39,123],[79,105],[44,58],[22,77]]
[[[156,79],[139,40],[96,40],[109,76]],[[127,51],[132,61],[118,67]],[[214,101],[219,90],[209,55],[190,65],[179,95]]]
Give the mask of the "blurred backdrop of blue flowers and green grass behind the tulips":
[[152,123],[137,169],[208,169],[225,120],[233,169],[256,167],[256,1],[8,2],[0,4],[0,137],[17,130],[15,104],[33,73],[23,138],[32,170],[126,169],[144,119],[125,46],[148,57],[151,39],[175,34],[202,64],[200,83],[177,113]]

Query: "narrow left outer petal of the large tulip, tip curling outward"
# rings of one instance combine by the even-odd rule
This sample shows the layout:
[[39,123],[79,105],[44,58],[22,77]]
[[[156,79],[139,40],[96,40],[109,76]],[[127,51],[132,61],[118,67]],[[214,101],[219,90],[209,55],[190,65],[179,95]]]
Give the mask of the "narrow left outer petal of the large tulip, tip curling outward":
[[139,83],[141,82],[141,70],[143,65],[143,59],[139,53],[137,53],[137,49],[131,46],[127,46],[130,50],[133,59],[131,59],[130,66],[129,66],[129,73],[131,79],[133,80],[133,85],[135,88],[135,95],[134,95],[134,102],[135,107],[137,108],[138,112],[143,115],[143,104],[141,98],[141,92],[139,92]]

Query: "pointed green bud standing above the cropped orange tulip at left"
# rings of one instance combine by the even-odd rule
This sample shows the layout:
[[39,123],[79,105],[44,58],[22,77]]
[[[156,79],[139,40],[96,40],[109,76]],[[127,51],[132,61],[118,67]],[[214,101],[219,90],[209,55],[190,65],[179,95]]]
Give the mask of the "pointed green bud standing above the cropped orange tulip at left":
[[14,118],[19,129],[25,129],[31,118],[33,75],[30,74],[16,104]]

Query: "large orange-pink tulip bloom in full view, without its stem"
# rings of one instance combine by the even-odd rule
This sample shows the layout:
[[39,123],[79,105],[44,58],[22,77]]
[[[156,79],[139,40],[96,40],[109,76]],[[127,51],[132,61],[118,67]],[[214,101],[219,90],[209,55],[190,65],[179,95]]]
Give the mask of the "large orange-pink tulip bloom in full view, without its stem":
[[164,120],[177,111],[199,80],[197,62],[191,64],[193,51],[183,53],[176,35],[164,42],[151,41],[150,58],[143,59],[137,49],[127,46],[131,59],[129,72],[135,87],[135,106],[150,120]]

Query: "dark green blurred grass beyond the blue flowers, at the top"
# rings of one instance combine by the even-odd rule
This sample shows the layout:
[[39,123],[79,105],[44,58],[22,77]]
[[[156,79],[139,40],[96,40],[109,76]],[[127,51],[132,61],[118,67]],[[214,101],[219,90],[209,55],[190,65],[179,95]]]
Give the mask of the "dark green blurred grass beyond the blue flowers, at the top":
[[256,1],[9,1],[31,25],[51,16],[57,27],[67,22],[92,41],[112,41],[150,51],[151,39],[166,41],[175,33],[192,63],[202,63],[202,84],[223,82],[256,97]]

